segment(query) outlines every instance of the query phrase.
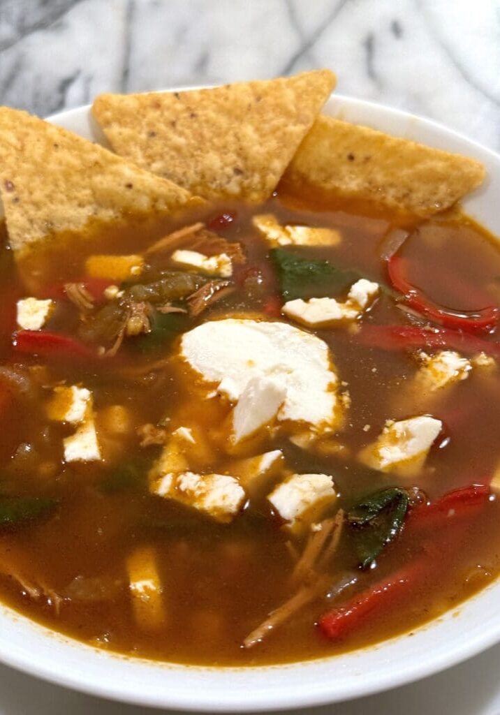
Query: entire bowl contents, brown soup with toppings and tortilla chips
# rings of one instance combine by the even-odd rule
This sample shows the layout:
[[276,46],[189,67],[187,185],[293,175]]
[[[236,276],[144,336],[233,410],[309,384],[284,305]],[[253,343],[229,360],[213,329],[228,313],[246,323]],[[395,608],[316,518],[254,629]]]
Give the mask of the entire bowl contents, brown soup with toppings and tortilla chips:
[[319,114],[328,70],[0,108],[0,598],[123,654],[280,664],[500,569],[484,167]]

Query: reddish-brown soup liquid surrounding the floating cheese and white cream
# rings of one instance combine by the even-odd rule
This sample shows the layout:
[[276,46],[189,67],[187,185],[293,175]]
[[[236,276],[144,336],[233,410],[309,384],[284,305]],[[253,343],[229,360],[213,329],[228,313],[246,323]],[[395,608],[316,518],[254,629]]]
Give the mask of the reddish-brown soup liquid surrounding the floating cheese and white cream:
[[[356,320],[316,331],[285,317],[276,256],[253,225],[253,215],[264,214],[282,226],[338,231],[337,245],[281,250],[301,260],[326,260],[377,282],[376,302]],[[173,230],[198,221],[223,241],[240,245],[242,260],[233,261],[231,277],[213,279],[175,265],[172,250],[145,253]],[[416,222],[356,204],[337,202],[333,210],[313,195],[299,200],[282,192],[264,206],[224,204],[176,224],[151,217],[87,236],[84,242],[65,237],[64,251],[57,249],[61,258],[54,260],[50,252],[37,255],[24,265],[22,280],[4,245],[1,598],[30,618],[104,648],[182,663],[248,665],[328,656],[411,632],[490,583],[500,566],[500,510],[494,485],[490,488],[500,458],[500,376],[494,360],[500,347],[493,329],[474,334],[460,327],[450,335],[451,328],[402,300],[383,258],[390,252],[387,237],[397,227],[408,234],[397,250],[406,260],[408,280],[433,305],[462,315],[496,305],[500,252],[481,227],[458,212]],[[202,251],[196,232],[177,247]],[[124,284],[105,276],[99,283],[86,268],[88,255],[96,254],[139,255],[145,267]],[[129,290],[174,270],[190,272],[192,290],[173,300],[165,294],[162,307],[187,312],[160,312],[159,302],[141,300],[147,304],[149,332],[121,336],[120,297],[114,289],[104,295],[104,288]],[[228,285],[220,300],[192,315],[187,297],[210,280],[227,280]],[[74,289],[65,290],[65,284],[83,285],[89,305],[84,306],[81,292],[75,299]],[[347,290],[332,285],[326,294],[342,302]],[[23,297],[54,301],[39,331],[49,335],[44,342],[38,333],[21,335],[16,326],[16,301]],[[106,306],[107,318],[102,313]],[[228,453],[230,434],[224,430],[230,429],[234,403],[207,399],[178,357],[183,333],[227,317],[287,322],[318,335],[330,348],[340,392],[350,398],[342,425],[318,443],[299,446],[286,430],[271,424],[255,448]],[[425,340],[417,345],[414,335],[408,339],[401,331],[391,342],[377,332],[377,326],[422,331],[429,325],[437,331],[433,335],[443,336],[441,347]],[[363,332],[366,327],[371,332]],[[54,335],[64,340],[57,342]],[[472,367],[466,379],[434,393],[412,390],[422,350],[431,358],[440,350],[454,350]],[[65,460],[64,439],[75,425],[51,417],[48,405],[54,388],[71,385],[92,393],[101,459]],[[363,463],[360,453],[376,442],[386,420],[416,415],[442,423],[416,473],[401,476]],[[237,458],[283,451],[283,469],[247,490],[227,523],[150,489],[151,470],[165,445],[172,444],[172,431],[190,424],[210,444],[207,463],[200,464],[198,456],[197,468],[190,468],[202,475],[230,474]],[[290,528],[267,498],[295,473],[332,477],[337,495],[299,529]],[[380,494],[388,488],[398,490],[383,507]],[[456,497],[461,488],[465,491]],[[356,505],[373,495],[378,512],[361,526]],[[445,501],[443,495],[448,495]],[[394,520],[398,504],[404,508]],[[446,521],[456,513],[459,518]],[[323,528],[331,531],[330,553],[306,564],[310,570],[294,578],[297,564],[305,563],[301,559],[308,543]],[[340,538],[334,539],[340,529]],[[377,544],[380,549],[371,558],[368,552],[376,551]],[[364,568],[361,552],[369,561]],[[153,595],[146,584],[142,601],[132,576],[134,563],[139,571],[143,566],[146,581],[152,578],[151,563],[156,569]],[[394,577],[406,586],[392,588]],[[387,583],[392,595],[378,598],[377,589]],[[300,603],[290,606],[297,593]],[[368,606],[363,610],[359,603]],[[358,616],[344,628],[342,614],[353,604],[358,604]],[[245,641],[280,606],[286,608],[275,627],[255,643]]]

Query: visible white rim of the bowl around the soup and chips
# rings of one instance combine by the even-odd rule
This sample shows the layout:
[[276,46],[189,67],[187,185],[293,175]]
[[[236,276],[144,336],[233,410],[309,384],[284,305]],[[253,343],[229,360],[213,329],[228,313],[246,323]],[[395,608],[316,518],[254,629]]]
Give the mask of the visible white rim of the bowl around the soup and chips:
[[[200,87],[173,87],[158,91],[173,92],[198,88]],[[83,122],[84,124],[88,123],[90,127],[93,124],[90,112],[91,106],[90,104],[86,104],[74,109],[67,109],[63,112],[52,114],[50,117],[47,117],[47,120],[54,124],[62,124],[63,126],[67,123],[78,125],[79,122]],[[338,114],[342,115],[343,112],[351,112],[356,117],[361,117],[361,119],[349,119],[349,121],[368,124],[368,126],[374,128],[378,128],[380,122],[382,124],[384,124],[384,122],[391,124],[391,120],[394,119],[396,125],[393,129],[387,129],[387,127],[384,126],[380,128],[383,131],[390,131],[391,134],[395,135],[400,134],[405,136],[408,133],[411,135],[412,130],[411,128],[408,129],[408,127],[418,125],[420,129],[423,129],[424,133],[428,132],[431,135],[431,141],[426,141],[426,143],[439,147],[441,143],[440,139],[444,138],[449,139],[452,144],[456,143],[457,146],[463,144],[464,147],[461,151],[475,156],[486,163],[491,162],[491,164],[496,164],[500,174],[499,154],[483,147],[479,142],[469,139],[464,136],[464,134],[460,134],[454,129],[449,129],[445,125],[434,122],[431,119],[418,117],[416,114],[404,112],[401,109],[393,109],[392,107],[387,107],[386,105],[365,99],[348,97],[343,94],[332,94],[328,100],[327,113],[335,116]],[[364,117],[366,117],[366,119],[363,119]],[[401,130],[398,129],[400,125],[401,127],[406,127],[406,132],[401,132]],[[95,131],[95,127],[93,127],[93,129]],[[78,132],[79,130],[74,129],[74,131]],[[435,137],[435,139],[433,139],[433,137]],[[423,139],[418,138],[416,140],[423,141]],[[460,151],[458,148],[451,150]],[[487,186],[488,184],[486,184],[484,189],[479,189],[479,192],[475,192],[470,199],[463,202],[464,207],[466,207],[470,215],[474,216],[476,194],[479,197],[484,195]],[[500,227],[496,227],[496,232],[500,233]],[[500,591],[499,580],[461,604],[459,606],[461,615],[459,618],[456,618],[455,621],[459,621],[462,618],[466,619],[468,611],[471,611],[471,604],[474,605],[485,600],[486,594],[491,593],[491,591]],[[323,657],[312,661],[300,661],[275,666],[245,666],[237,668],[224,666],[184,666],[179,664],[162,664],[157,661],[135,659],[133,657],[123,656],[122,654],[101,651],[73,638],[69,638],[69,636],[57,633],[57,631],[52,631],[46,626],[41,626],[39,623],[36,623],[36,621],[30,621],[29,618],[22,616],[17,611],[0,605],[0,620],[3,620],[4,617],[7,618],[10,623],[16,623],[16,627],[20,624],[19,627],[24,633],[31,633],[34,637],[34,642],[37,638],[41,638],[41,641],[46,641],[49,646],[51,644],[53,646],[52,649],[50,649],[52,658],[46,658],[41,657],[41,654],[36,656],[36,653],[34,654],[34,651],[29,647],[29,641],[24,649],[19,646],[12,649],[8,638],[1,638],[0,661],[4,664],[24,671],[26,674],[52,682],[53,684],[65,686],[94,696],[114,699],[129,704],[190,711],[278,711],[288,708],[318,706],[357,699],[403,686],[432,674],[437,674],[448,667],[459,664],[479,654],[481,651],[494,646],[500,641],[499,617],[496,623],[488,623],[484,628],[471,631],[469,638],[463,637],[457,639],[453,647],[436,648],[429,651],[428,657],[426,657],[425,660],[418,661],[411,667],[408,667],[407,664],[405,665],[404,661],[403,663],[397,661],[390,669],[386,668],[385,673],[377,671],[365,672],[362,677],[360,676],[358,678],[356,687],[353,686],[351,681],[343,686],[343,684],[339,684],[335,678],[323,679],[322,677],[319,684],[315,682],[315,690],[311,691],[310,685],[307,686],[303,684],[300,677],[301,675],[307,676],[308,671],[310,672],[311,670],[318,672],[324,671],[323,675],[325,675],[329,671],[328,666],[332,666],[333,671],[335,671],[335,666],[341,666],[342,661],[354,662],[356,659],[363,659],[363,656],[368,651],[370,651],[371,654],[379,654],[382,659],[386,658],[385,651],[393,649],[395,644],[397,649],[398,642],[404,641],[405,639],[406,641],[408,640],[408,634],[406,633],[401,636],[396,636],[395,638],[390,638],[381,644],[368,646],[358,651],[351,651],[350,653],[341,654],[339,656]],[[434,619],[420,628],[416,628],[414,632],[417,636],[421,633],[431,633],[434,631],[437,633],[441,628],[440,624],[451,623],[452,618],[452,611],[448,611],[441,618]],[[465,623],[467,623],[467,621],[465,621]],[[56,649],[58,647],[62,647],[62,651],[59,656],[56,656]],[[36,651],[36,648],[34,650]],[[96,672],[92,673],[85,669],[75,670],[72,667],[65,667],[65,652],[70,654],[73,651],[84,654],[82,656],[84,663],[87,662],[87,658],[95,659],[97,664],[101,664],[102,671],[106,670],[106,668],[104,668],[104,662],[106,662],[112,671],[114,666],[122,664],[126,665],[128,669],[132,668],[134,671],[142,671],[143,674],[145,671],[151,673],[153,671],[161,671],[162,674],[166,676],[167,673],[170,672],[173,674],[172,677],[174,679],[176,679],[177,676],[186,676],[187,674],[187,685],[184,684],[182,686],[183,689],[180,689],[177,693],[175,691],[167,691],[167,689],[160,689],[160,691],[151,691],[146,688],[142,689],[142,691],[137,690],[137,681],[120,681],[119,679],[106,675],[99,676],[97,675],[97,672],[101,670],[99,668],[96,669]],[[88,662],[90,663],[91,661]],[[356,669],[356,665],[354,665],[354,668]],[[119,671],[120,669],[118,668],[117,672]],[[126,674],[127,668],[122,669],[122,671]],[[214,674],[218,674],[218,676],[215,678]],[[267,686],[263,686],[260,681],[265,681],[268,674],[270,674],[270,681]],[[284,674],[283,677],[280,674]],[[288,677],[288,674],[290,674],[290,677]],[[225,678],[221,678],[221,675],[225,675]],[[227,682],[230,676],[234,676],[235,679],[242,676],[244,689],[241,688],[241,684],[236,689],[231,689]],[[210,680],[214,678],[220,680],[220,687],[217,686],[218,689],[216,687],[213,691],[210,690],[210,687],[204,690],[202,685],[207,685],[207,677]],[[192,680],[191,684],[189,684],[190,680]],[[222,689],[224,682],[225,689]],[[250,691],[247,685],[245,685],[245,682],[247,684],[250,682],[253,685],[260,684],[260,687]],[[170,685],[170,687],[172,687],[172,685]]]

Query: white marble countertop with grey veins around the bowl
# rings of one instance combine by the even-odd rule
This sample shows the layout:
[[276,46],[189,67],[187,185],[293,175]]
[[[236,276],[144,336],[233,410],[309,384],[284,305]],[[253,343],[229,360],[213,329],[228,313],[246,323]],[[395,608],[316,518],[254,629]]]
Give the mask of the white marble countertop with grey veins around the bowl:
[[[338,74],[339,92],[500,150],[499,0],[0,0],[1,103],[41,116],[104,91],[317,66]],[[497,715],[499,671],[497,646],[420,683],[314,712]],[[0,715],[143,712],[0,666]]]

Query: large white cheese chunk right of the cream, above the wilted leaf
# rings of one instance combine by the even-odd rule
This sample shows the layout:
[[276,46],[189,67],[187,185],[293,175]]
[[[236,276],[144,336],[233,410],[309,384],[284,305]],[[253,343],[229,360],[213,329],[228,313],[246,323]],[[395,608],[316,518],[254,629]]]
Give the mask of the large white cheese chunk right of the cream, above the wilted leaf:
[[361,450],[359,458],[381,472],[414,476],[423,467],[442,426],[441,420],[428,415],[398,422],[389,420],[376,442]]

